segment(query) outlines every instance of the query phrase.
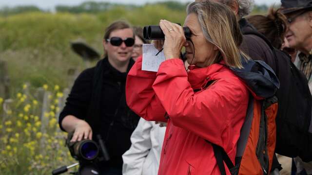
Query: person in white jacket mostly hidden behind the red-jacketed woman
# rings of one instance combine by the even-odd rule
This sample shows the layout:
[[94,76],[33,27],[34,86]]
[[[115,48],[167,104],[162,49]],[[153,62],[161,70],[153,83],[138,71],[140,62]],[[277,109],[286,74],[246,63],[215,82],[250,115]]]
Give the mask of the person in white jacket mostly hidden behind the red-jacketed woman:
[[[142,55],[142,44],[148,43],[143,38],[141,27],[134,27],[136,42],[132,58]],[[161,147],[166,131],[166,123],[155,123],[141,118],[131,135],[131,147],[122,155],[123,175],[157,175]]]

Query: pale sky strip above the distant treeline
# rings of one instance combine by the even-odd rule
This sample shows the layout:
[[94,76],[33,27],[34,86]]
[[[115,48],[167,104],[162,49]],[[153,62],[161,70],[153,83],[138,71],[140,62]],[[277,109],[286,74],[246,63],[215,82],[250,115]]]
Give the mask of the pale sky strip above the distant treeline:
[[[17,5],[36,5],[42,9],[53,9],[56,5],[78,5],[81,2],[88,0],[0,0],[0,7],[9,6],[14,7]],[[115,3],[131,3],[131,4],[144,4],[146,2],[156,2],[164,0],[93,0],[93,1],[106,1]],[[188,2],[192,0],[177,0],[180,2]],[[254,0],[256,4],[267,4],[279,3],[280,0]]]

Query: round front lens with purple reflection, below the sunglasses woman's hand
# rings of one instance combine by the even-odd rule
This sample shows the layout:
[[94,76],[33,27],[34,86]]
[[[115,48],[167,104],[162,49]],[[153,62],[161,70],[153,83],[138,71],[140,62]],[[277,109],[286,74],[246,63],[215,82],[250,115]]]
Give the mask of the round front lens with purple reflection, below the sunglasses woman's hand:
[[74,144],[74,153],[84,160],[94,160],[98,157],[98,145],[93,140],[81,140]]

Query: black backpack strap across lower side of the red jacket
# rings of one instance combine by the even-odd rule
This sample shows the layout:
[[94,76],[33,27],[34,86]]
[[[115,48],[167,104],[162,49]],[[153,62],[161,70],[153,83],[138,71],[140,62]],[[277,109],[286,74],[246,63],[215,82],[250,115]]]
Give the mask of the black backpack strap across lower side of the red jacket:
[[216,163],[217,163],[217,165],[219,167],[221,175],[226,175],[223,161],[225,162],[226,166],[229,169],[231,169],[231,168],[234,167],[234,164],[233,164],[232,160],[230,159],[228,154],[224,151],[224,149],[221,146],[218,146],[218,145],[216,145],[214,143],[211,143],[208,140],[205,140],[205,141],[210,143],[213,146]]

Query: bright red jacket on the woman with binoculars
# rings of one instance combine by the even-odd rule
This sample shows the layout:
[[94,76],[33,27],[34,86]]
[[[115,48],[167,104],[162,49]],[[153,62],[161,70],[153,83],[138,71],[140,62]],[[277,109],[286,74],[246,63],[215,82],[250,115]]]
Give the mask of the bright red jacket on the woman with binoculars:
[[[221,64],[188,73],[180,59],[164,61],[157,73],[141,66],[139,58],[128,74],[127,104],[148,121],[170,117],[158,175],[220,175],[205,140],[222,146],[234,162],[249,99],[245,84]],[[210,80],[217,81],[201,89]]]

